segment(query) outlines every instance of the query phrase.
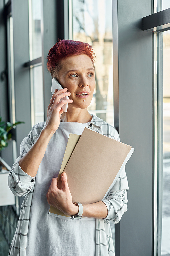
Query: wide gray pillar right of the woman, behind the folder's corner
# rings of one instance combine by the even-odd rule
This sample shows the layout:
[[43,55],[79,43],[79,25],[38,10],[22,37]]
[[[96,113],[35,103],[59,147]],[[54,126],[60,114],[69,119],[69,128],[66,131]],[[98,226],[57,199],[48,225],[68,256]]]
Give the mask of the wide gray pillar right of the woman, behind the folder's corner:
[[120,255],[152,255],[152,34],[142,17],[150,0],[118,1],[119,131],[135,151],[126,165],[128,212],[120,222]]

